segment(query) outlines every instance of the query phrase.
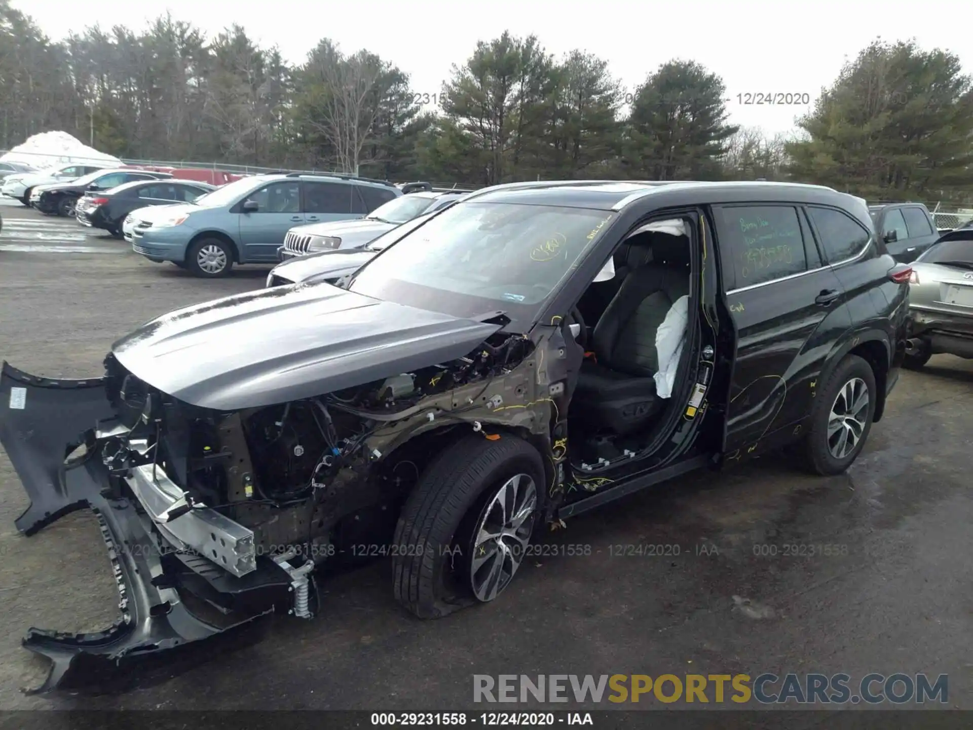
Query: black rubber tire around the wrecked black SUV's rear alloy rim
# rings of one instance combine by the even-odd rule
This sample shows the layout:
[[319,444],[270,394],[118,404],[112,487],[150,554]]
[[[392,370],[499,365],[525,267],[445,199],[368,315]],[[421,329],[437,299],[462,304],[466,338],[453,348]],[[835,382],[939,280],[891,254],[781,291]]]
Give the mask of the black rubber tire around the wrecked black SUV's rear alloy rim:
[[[843,456],[832,452],[834,443],[829,442],[828,426],[831,420],[833,408],[839,408],[836,403],[840,394],[848,383],[860,381],[865,384],[868,394],[868,405],[864,413],[859,414],[859,418],[864,421],[860,434],[851,448]],[[811,429],[804,439],[802,456],[805,467],[812,474],[821,476],[831,476],[844,472],[851,462],[858,457],[868,439],[868,434],[872,430],[872,419],[875,417],[875,406],[879,391],[875,384],[875,373],[872,366],[857,355],[846,355],[838,363],[838,367],[828,378],[827,383],[817,391],[814,398],[814,405],[811,410]],[[846,420],[847,422],[847,420]],[[841,434],[836,434],[840,438]]]

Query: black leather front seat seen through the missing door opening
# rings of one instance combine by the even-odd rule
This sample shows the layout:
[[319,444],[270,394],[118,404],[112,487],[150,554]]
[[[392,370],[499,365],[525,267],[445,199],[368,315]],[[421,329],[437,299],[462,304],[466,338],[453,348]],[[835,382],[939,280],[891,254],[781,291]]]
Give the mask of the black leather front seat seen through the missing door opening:
[[572,420],[587,432],[630,434],[665,403],[656,397],[653,379],[659,370],[656,331],[672,303],[689,294],[689,239],[653,233],[648,245],[651,262],[626,275],[598,319],[595,361],[582,364],[571,396]]

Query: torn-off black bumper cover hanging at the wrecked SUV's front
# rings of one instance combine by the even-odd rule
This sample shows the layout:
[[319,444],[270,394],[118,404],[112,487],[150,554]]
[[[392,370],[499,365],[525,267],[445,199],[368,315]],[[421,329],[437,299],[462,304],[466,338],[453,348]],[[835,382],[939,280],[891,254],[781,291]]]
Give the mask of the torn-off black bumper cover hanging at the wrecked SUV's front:
[[[113,474],[93,439],[95,426],[101,433],[124,428],[114,420],[102,379],[40,379],[4,363],[0,442],[30,497],[17,529],[31,535],[69,512],[90,508],[108,549],[121,609],[121,617],[101,632],[29,629],[23,646],[51,661],[50,674],[32,693],[73,684],[91,663],[118,665],[212,637],[289,599],[291,578],[270,557],[256,558],[237,576],[188,545],[201,536],[194,536],[196,515],[163,516],[171,527],[160,529],[157,519],[165,505],[150,492],[160,486],[164,492],[164,475],[153,485],[151,471],[144,469]],[[68,462],[68,453],[82,443],[93,448]]]

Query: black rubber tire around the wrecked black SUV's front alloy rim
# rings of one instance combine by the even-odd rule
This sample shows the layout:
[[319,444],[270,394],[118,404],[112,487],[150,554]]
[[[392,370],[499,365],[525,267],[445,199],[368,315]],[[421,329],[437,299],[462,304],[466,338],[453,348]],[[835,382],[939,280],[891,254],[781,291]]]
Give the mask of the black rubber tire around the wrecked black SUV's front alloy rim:
[[[529,476],[536,486],[532,532],[541,513],[545,477],[541,456],[530,444],[515,436],[490,441],[471,434],[433,460],[395,529],[396,601],[419,618],[440,618],[478,602],[469,583],[473,531],[493,496],[517,474]],[[509,580],[503,588],[507,585]]]

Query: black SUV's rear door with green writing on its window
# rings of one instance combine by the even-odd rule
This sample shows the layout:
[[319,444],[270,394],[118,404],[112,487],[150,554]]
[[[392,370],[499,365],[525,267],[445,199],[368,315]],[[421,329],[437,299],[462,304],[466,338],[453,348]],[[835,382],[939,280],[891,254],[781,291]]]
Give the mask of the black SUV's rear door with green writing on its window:
[[714,213],[737,339],[724,438],[733,459],[806,427],[832,330],[846,329],[848,315],[802,206],[722,205]]

